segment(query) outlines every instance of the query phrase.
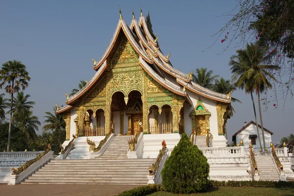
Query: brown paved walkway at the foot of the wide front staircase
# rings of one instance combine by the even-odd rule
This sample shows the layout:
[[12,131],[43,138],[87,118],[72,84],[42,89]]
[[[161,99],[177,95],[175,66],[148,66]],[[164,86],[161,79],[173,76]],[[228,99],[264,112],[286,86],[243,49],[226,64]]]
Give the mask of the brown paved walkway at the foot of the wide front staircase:
[[114,196],[138,185],[0,184],[1,196]]

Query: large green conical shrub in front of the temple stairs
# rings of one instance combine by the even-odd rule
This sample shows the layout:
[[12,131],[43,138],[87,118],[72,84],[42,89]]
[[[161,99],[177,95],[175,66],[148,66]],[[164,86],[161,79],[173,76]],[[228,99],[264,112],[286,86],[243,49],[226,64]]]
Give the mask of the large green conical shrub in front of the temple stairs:
[[202,151],[193,146],[186,133],[162,171],[162,185],[172,193],[190,194],[205,191],[209,186],[209,164]]

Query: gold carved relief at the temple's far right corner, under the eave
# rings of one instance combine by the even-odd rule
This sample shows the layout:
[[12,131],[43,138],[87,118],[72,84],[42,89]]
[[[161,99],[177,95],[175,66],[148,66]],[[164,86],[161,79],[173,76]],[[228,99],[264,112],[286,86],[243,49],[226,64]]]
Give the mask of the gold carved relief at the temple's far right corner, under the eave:
[[225,134],[225,124],[229,116],[227,115],[228,104],[217,103],[217,116],[218,116],[218,133],[219,135]]

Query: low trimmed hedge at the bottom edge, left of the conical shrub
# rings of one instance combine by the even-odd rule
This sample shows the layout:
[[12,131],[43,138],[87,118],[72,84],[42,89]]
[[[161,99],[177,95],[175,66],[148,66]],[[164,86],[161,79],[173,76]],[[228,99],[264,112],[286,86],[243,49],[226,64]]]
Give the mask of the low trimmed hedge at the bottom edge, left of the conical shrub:
[[146,186],[141,186],[128,191],[124,191],[117,196],[147,196],[157,191],[163,191],[160,184],[148,184]]

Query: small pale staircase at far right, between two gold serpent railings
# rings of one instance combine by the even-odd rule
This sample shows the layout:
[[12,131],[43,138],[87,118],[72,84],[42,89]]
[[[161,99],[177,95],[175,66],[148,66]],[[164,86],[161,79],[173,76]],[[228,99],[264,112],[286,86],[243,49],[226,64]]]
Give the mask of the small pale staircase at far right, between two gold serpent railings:
[[279,173],[270,155],[255,156],[260,180],[278,181]]

